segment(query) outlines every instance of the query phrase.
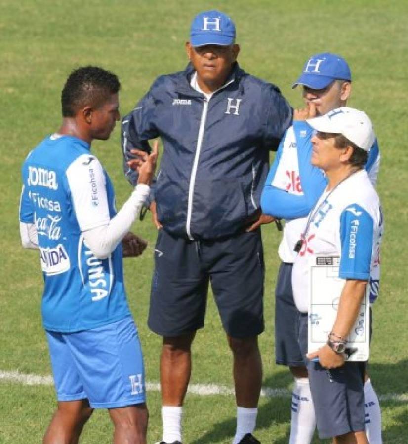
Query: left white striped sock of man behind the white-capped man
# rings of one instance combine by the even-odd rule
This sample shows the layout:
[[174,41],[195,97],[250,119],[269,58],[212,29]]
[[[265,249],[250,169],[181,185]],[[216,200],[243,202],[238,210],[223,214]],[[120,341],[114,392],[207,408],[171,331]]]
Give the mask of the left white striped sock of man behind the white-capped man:
[[308,378],[295,378],[289,444],[310,444],[316,427]]

